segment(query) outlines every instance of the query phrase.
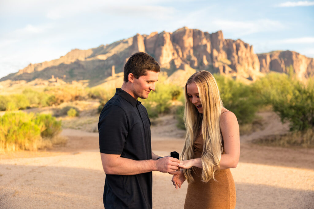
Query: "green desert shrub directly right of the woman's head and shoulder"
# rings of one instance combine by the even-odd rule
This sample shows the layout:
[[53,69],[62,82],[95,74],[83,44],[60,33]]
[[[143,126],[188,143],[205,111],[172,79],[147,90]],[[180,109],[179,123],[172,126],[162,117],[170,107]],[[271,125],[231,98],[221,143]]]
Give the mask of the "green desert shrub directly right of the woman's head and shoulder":
[[215,74],[224,107],[233,112],[240,124],[252,123],[261,101],[252,93],[250,85]]

